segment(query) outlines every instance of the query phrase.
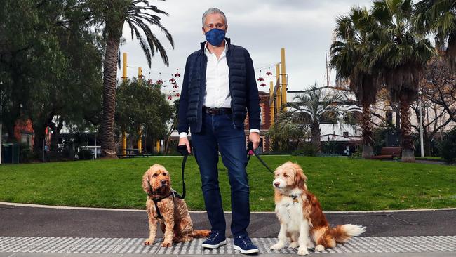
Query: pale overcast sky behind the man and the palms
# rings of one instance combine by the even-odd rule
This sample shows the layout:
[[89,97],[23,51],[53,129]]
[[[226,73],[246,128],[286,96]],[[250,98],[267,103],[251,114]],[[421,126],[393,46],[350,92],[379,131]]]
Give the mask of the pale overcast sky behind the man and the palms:
[[[158,55],[152,59],[149,69],[138,41],[131,40],[130,29],[125,26],[126,42],[120,51],[128,53],[128,77],[136,77],[138,67],[153,81],[168,81],[176,69],[183,75],[187,56],[199,49],[199,42],[205,41],[201,16],[208,8],[217,7],[227,15],[227,37],[232,44],[250,52],[257,78],[266,78],[268,67],[275,76],[280,49],[286,48],[288,90],[302,90],[315,82],[319,86],[326,85],[325,51],[329,54],[335,18],[349,13],[352,6],[369,7],[371,0],[150,0],[149,3],[169,13],[168,17],[163,16],[162,24],[173,35],[175,48],[154,28],[167,49],[170,65],[163,65]],[[121,71],[118,74],[121,77]],[[334,78],[332,71],[330,84],[334,84]],[[269,80],[266,82],[265,88],[258,83],[260,90],[269,91]],[[182,85],[182,77],[177,83]]]

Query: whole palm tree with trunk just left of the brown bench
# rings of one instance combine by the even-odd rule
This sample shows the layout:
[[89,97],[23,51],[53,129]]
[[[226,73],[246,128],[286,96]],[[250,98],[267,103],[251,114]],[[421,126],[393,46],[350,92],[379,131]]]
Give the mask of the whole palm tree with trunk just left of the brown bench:
[[330,65],[337,71],[338,81],[349,81],[350,90],[356,95],[363,109],[361,131],[363,158],[373,156],[373,134],[370,105],[375,103],[381,86],[380,70],[370,67],[375,46],[375,22],[366,8],[351,8],[349,15],[336,20],[335,41],[331,45]]

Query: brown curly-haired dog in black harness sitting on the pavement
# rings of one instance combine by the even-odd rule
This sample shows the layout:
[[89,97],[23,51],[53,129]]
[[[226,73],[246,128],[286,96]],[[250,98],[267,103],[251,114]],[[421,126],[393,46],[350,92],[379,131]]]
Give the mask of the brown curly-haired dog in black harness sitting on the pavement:
[[[154,244],[157,223],[165,234],[161,246],[169,247],[173,242],[189,242],[194,237],[208,237],[210,230],[193,230],[187,204],[173,195],[169,172],[160,164],[152,165],[142,176],[142,189],[147,193],[147,216],[149,217],[149,238],[144,244]],[[159,217],[154,199],[159,207]]]

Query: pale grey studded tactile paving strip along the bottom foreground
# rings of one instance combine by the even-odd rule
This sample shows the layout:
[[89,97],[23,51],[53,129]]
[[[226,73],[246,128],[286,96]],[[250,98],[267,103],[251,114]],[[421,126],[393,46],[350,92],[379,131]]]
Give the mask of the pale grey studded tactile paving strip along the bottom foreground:
[[[102,253],[102,254],[168,254],[168,255],[215,255],[238,254],[232,239],[218,249],[202,249],[203,239],[175,244],[169,248],[160,246],[157,239],[152,246],[143,244],[142,238],[91,238],[91,237],[0,237],[0,253]],[[297,249],[271,250],[275,238],[253,238],[260,253],[297,253]],[[311,251],[311,250],[310,250]],[[311,251],[312,252],[312,251]],[[354,237],[346,244],[337,244],[323,253],[424,253],[456,252],[456,236],[427,237]]]

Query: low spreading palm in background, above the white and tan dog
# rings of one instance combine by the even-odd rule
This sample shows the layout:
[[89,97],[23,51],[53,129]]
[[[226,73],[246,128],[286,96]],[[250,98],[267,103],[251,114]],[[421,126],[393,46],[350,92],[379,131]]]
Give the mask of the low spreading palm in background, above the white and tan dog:
[[317,88],[314,84],[304,93],[298,94],[293,98],[293,102],[286,104],[287,110],[283,110],[279,121],[283,124],[294,123],[309,126],[311,131],[311,143],[317,151],[321,150],[321,121],[332,121],[342,124],[343,115],[337,102],[342,100],[342,95],[325,93],[323,88]]

